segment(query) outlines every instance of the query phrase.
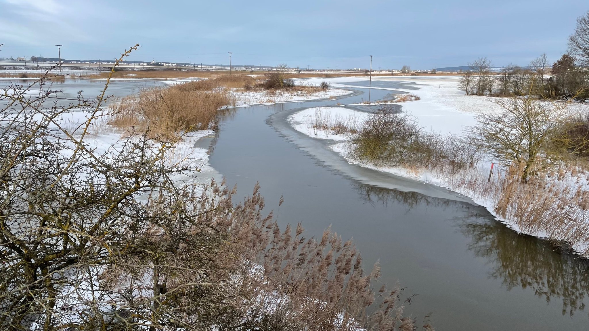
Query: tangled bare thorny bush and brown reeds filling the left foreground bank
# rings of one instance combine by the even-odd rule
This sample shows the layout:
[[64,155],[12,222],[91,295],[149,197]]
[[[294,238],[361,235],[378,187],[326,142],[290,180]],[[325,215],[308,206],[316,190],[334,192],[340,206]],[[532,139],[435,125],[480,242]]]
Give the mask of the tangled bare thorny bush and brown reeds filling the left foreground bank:
[[0,329],[413,330],[352,242],[280,230],[258,186],[235,205],[186,181],[149,127],[100,149],[109,81],[68,104],[43,83],[0,91]]

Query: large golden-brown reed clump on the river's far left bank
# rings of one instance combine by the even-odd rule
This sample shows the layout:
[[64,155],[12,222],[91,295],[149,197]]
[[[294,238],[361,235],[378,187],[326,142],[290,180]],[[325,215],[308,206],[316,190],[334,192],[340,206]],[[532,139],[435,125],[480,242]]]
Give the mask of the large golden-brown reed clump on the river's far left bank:
[[112,125],[149,128],[155,135],[214,128],[217,111],[229,105],[226,91],[187,90],[183,85],[143,89],[112,105]]

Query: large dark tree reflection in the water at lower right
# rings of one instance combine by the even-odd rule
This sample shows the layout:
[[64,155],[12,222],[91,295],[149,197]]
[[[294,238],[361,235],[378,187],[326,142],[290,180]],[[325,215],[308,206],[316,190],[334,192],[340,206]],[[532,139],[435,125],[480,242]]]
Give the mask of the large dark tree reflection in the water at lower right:
[[583,299],[589,290],[587,260],[554,252],[545,240],[518,235],[494,220],[464,220],[457,225],[462,234],[471,238],[468,248],[475,256],[489,260],[489,277],[501,280],[507,290],[521,287],[531,289],[547,302],[560,299],[562,315],[572,317],[577,310],[585,309]]

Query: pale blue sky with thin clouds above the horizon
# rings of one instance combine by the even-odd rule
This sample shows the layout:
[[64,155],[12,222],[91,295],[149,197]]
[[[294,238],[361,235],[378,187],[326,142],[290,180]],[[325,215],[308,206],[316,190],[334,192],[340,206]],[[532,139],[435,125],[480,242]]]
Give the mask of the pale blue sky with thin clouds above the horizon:
[[567,51],[587,0],[0,0],[0,58],[432,69]]

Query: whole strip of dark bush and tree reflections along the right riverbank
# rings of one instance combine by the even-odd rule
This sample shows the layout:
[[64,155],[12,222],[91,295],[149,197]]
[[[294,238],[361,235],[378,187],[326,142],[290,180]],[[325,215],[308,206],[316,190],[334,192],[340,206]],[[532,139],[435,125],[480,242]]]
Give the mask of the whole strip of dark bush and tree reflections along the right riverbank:
[[558,252],[547,240],[520,235],[498,222],[479,206],[431,198],[415,192],[376,188],[356,183],[355,189],[372,204],[401,202],[408,210],[420,206],[468,209],[457,216],[455,226],[471,239],[468,249],[488,260],[489,277],[499,279],[507,290],[531,289],[535,296],[562,300],[562,315],[571,317],[585,310],[583,299],[589,293],[589,261]]

